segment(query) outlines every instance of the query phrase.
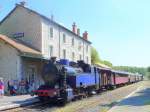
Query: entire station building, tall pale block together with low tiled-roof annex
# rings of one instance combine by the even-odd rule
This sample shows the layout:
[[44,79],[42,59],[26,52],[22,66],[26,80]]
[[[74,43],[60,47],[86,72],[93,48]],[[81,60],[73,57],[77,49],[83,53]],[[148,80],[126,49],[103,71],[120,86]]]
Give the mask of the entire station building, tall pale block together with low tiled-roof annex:
[[69,30],[17,4],[0,22],[0,77],[3,77],[5,87],[9,80],[24,78],[29,83],[35,82],[35,89],[38,88],[43,83],[43,60],[52,56],[75,62],[84,60],[91,64],[88,33],[80,36],[75,23]]

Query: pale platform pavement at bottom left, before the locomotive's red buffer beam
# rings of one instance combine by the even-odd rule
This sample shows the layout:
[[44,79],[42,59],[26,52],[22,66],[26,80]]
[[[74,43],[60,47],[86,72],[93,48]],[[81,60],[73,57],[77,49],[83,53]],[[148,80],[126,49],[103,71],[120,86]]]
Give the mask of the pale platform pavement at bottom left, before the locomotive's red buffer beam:
[[0,97],[0,111],[30,105],[38,101],[37,97],[30,95]]

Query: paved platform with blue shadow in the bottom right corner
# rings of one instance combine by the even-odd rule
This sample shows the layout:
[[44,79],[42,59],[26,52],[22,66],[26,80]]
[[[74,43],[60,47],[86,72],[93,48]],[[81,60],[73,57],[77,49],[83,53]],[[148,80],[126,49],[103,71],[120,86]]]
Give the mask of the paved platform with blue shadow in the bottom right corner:
[[145,82],[108,112],[150,112],[150,81]]

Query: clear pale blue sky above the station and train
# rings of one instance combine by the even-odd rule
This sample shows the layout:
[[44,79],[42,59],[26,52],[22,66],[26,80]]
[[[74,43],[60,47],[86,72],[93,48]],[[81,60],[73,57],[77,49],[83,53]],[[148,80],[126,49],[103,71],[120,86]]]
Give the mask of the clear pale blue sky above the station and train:
[[[0,0],[2,20],[21,0]],[[89,33],[100,58],[115,66],[150,66],[150,0],[26,0],[26,7]]]

